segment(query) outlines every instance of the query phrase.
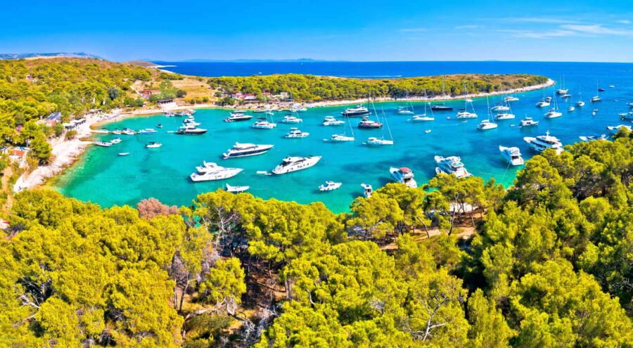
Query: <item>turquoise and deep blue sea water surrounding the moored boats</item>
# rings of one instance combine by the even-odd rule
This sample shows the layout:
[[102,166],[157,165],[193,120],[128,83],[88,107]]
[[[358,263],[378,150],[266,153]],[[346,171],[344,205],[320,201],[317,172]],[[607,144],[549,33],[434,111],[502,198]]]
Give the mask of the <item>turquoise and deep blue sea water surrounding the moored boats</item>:
[[[394,146],[370,148],[363,146],[369,136],[389,138],[387,127],[381,130],[357,129],[358,118],[352,118],[356,141],[353,143],[326,143],[324,138],[343,132],[344,127],[323,127],[325,116],[340,117],[345,106],[312,108],[298,115],[302,124],[279,122],[285,112],[276,112],[274,130],[251,129],[252,122],[222,122],[229,115],[228,110],[197,110],[196,121],[200,127],[209,129],[202,136],[179,136],[167,131],[179,127],[180,117],[156,115],[137,117],[108,124],[106,129],[129,127],[132,129],[155,128],[158,134],[121,135],[122,142],[110,148],[91,146],[75,166],[53,181],[53,186],[61,193],[79,200],[96,202],[104,207],[112,205],[136,205],[143,198],[154,197],[170,205],[190,205],[196,195],[215,191],[226,183],[232,186],[250,186],[250,193],[261,198],[294,200],[300,203],[321,201],[334,212],[349,210],[350,202],[362,195],[361,183],[370,183],[374,189],[391,180],[390,167],[410,167],[418,184],[435,176],[435,155],[458,155],[469,172],[485,179],[494,177],[497,182],[511,185],[520,167],[509,167],[501,160],[499,145],[518,146],[525,160],[535,155],[524,136],[537,136],[550,131],[563,144],[579,141],[578,136],[608,134],[607,126],[629,124],[618,116],[629,112],[627,103],[633,103],[632,63],[537,63],[537,62],[273,62],[273,63],[170,63],[177,65],[167,70],[188,75],[269,75],[273,73],[300,73],[333,75],[340,77],[411,77],[441,75],[464,72],[518,73],[525,72],[550,77],[559,84],[546,89],[547,96],[553,96],[564,75],[565,87],[573,98],[568,101],[556,97],[563,116],[548,120],[543,117],[546,110],[535,107],[544,92],[531,91],[516,96],[520,101],[512,103],[515,120],[499,121],[499,128],[478,131],[476,126],[487,117],[486,98],[473,102],[478,119],[468,122],[455,120],[457,109],[463,101],[447,102],[455,110],[435,112],[434,122],[410,122],[411,115],[399,115],[397,108],[406,107],[406,102],[376,103],[378,113],[384,110],[388,120]],[[601,92],[603,101],[589,103],[596,94],[596,81],[606,89]],[[609,88],[609,85],[615,88]],[[569,105],[580,98],[587,103],[567,112]],[[501,101],[501,96],[490,98],[490,105]],[[552,103],[554,105],[554,103]],[[368,105],[371,106],[371,105]],[[416,114],[424,111],[424,103],[413,103]],[[592,110],[599,109],[595,116]],[[430,110],[428,110],[430,115]],[[262,115],[262,114],[255,114]],[[525,115],[540,121],[537,127],[519,128]],[[450,117],[451,120],[447,120]],[[343,119],[343,118],[341,118]],[[253,119],[255,120],[255,119]],[[286,139],[283,135],[290,127],[299,127],[310,135],[307,138]],[[426,133],[430,130],[430,133]],[[350,127],[347,126],[347,134]],[[110,140],[114,135],[98,135],[96,138]],[[149,141],[158,141],[162,148],[146,149]],[[241,143],[274,144],[274,148],[264,155],[222,160],[222,153],[236,141]],[[120,157],[118,153],[129,152]],[[321,155],[323,158],[314,167],[281,176],[264,176],[257,171],[270,171],[287,155]],[[224,167],[243,168],[243,172],[224,181],[192,183],[188,176],[203,160],[217,162]],[[321,193],[318,186],[326,180],[340,181],[340,189]]]

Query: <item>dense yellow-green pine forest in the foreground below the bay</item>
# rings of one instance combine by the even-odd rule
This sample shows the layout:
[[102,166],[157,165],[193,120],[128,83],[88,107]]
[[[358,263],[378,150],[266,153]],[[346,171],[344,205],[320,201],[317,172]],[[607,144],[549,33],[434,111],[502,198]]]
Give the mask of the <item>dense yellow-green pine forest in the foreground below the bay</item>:
[[440,174],[338,215],[25,191],[0,239],[0,346],[630,347],[633,136],[565,149],[509,191]]

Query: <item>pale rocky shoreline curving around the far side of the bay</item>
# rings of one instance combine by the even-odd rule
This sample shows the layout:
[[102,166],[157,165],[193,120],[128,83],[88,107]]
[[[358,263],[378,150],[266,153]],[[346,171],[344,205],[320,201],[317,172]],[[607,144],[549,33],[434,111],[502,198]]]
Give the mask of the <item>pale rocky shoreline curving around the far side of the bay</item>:
[[[515,94],[528,91],[536,91],[538,89],[545,89],[549,86],[554,86],[556,82],[552,79],[547,79],[544,84],[535,84],[534,86],[526,86],[518,89],[509,89],[507,91],[494,91],[490,93],[479,94],[467,94],[466,96],[434,96],[433,98],[413,97],[413,98],[375,98],[375,103],[387,103],[391,101],[455,101],[463,98],[482,98],[485,96],[497,96],[501,94]],[[366,99],[357,100],[343,100],[343,101],[318,101],[304,103],[307,108],[322,108],[327,106],[341,106],[341,105],[357,105],[365,103]],[[252,105],[249,105],[252,106]],[[250,110],[255,108],[247,108],[244,105],[237,105],[233,108],[224,108],[215,104],[196,104],[196,105],[177,105],[175,108],[170,108],[169,111],[179,111],[187,109],[225,109],[225,110]],[[65,140],[65,138],[56,138],[50,142],[53,161],[49,165],[40,166],[34,169],[29,174],[23,174],[15,181],[13,185],[13,192],[17,193],[25,189],[36,188],[43,186],[47,181],[53,179],[58,174],[61,174],[65,169],[72,167],[79,157],[84,154],[86,148],[91,145],[92,141],[84,141],[83,138],[89,138],[94,134],[94,129],[102,127],[112,122],[118,122],[131,117],[143,117],[151,115],[160,115],[165,113],[165,110],[160,108],[148,108],[148,109],[132,109],[124,110],[115,115],[106,115],[97,117],[87,117],[84,124],[77,127],[77,136],[72,140]]]

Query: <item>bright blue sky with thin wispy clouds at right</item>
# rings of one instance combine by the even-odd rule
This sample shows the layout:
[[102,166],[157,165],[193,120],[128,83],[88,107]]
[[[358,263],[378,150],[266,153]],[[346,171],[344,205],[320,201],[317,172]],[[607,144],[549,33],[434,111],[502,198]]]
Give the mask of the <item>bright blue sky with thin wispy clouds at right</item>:
[[629,1],[3,1],[0,53],[633,61]]

